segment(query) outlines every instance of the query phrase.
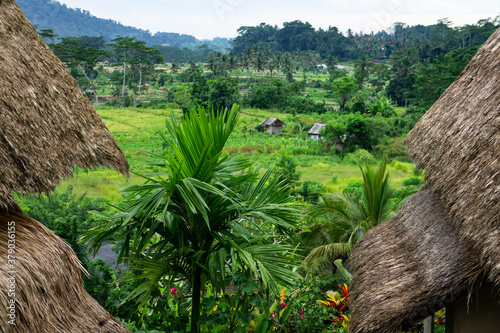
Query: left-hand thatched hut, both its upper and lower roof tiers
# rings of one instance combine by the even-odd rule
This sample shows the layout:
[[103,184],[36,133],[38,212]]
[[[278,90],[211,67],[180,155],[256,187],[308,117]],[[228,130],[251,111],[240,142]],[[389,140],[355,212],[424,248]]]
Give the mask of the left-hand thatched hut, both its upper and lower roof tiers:
[[85,94],[13,0],[0,2],[0,332],[129,332],[83,288],[70,246],[13,193],[49,193],[74,166],[128,163]]

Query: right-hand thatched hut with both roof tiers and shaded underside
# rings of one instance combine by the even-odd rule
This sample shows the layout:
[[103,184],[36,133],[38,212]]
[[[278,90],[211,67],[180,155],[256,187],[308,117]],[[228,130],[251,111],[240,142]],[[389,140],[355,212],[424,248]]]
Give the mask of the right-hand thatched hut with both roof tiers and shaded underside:
[[500,30],[406,138],[427,185],[349,265],[350,332],[396,332],[446,307],[446,332],[500,327]]

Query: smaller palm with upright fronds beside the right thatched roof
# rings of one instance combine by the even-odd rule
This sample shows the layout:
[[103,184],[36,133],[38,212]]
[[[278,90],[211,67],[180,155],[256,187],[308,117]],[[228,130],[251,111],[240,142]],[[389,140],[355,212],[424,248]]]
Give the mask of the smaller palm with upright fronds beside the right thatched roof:
[[395,202],[391,200],[385,160],[377,169],[370,166],[360,169],[361,197],[345,192],[324,193],[320,203],[311,208],[309,216],[318,220],[303,235],[304,244],[311,249],[305,259],[306,266],[347,257],[368,230],[394,216],[414,193],[405,192]]

